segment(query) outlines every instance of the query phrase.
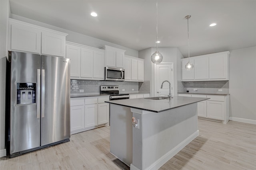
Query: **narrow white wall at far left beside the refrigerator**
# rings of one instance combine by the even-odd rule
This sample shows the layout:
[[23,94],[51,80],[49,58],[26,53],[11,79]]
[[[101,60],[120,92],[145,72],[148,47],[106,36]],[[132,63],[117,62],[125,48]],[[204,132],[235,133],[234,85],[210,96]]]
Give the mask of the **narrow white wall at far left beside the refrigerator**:
[[10,16],[9,0],[0,0],[0,157],[5,151],[5,63],[7,55],[7,23]]

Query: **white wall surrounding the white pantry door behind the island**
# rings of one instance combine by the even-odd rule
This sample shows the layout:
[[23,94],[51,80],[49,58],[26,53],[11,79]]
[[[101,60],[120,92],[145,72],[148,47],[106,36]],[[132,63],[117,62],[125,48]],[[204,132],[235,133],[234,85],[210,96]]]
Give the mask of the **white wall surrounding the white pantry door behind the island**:
[[[155,94],[155,70],[154,64],[151,62],[151,55],[156,51],[156,48],[149,48],[139,51],[139,58],[144,59],[144,80],[150,80],[150,93]],[[158,47],[158,51],[163,55],[162,63],[174,63],[174,95],[177,96],[178,85],[177,81],[181,80],[181,60],[183,58],[177,47]]]

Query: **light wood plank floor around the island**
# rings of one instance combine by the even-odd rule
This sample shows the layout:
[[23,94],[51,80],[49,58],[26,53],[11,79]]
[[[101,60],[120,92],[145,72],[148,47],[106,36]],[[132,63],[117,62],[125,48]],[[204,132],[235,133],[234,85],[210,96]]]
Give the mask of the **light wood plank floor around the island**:
[[[226,125],[198,119],[200,135],[160,170],[256,170],[256,125]],[[110,154],[110,128],[72,135],[70,142],[15,158],[0,158],[0,170],[120,170]]]

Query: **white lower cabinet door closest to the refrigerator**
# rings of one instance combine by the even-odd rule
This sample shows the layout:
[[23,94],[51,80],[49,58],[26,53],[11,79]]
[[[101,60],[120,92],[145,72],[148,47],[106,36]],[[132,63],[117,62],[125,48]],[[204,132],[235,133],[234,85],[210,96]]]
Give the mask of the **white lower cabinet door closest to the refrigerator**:
[[70,131],[84,128],[84,105],[70,107]]

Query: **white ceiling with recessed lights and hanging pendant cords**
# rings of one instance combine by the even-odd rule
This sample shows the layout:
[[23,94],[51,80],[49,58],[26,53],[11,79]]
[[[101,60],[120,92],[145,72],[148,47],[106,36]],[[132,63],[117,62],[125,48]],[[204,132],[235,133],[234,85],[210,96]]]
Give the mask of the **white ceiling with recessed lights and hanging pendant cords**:
[[[156,46],[156,0],[10,0],[10,9],[130,49]],[[158,0],[158,47],[188,57],[187,15],[190,56],[256,46],[255,0]]]

